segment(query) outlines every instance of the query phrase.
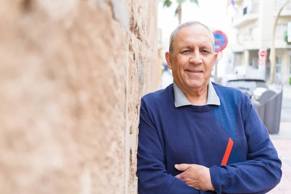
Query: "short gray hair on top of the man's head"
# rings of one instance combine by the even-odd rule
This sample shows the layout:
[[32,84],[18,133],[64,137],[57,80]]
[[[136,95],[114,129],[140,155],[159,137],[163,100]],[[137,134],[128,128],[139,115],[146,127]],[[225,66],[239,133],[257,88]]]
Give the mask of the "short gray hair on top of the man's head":
[[177,35],[178,31],[181,30],[182,28],[187,27],[187,26],[194,26],[194,25],[202,25],[208,30],[208,32],[210,33],[210,36],[211,36],[212,45],[213,45],[213,54],[214,54],[214,52],[215,52],[214,36],[213,36],[213,33],[211,32],[210,28],[208,28],[206,25],[200,23],[199,21],[187,21],[183,24],[178,25],[178,27],[171,33],[170,47],[169,47],[169,52],[170,52],[171,56],[173,56],[173,54],[174,54],[174,40],[175,40],[175,36]]

